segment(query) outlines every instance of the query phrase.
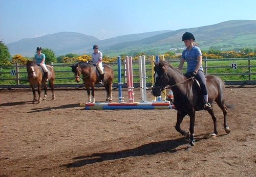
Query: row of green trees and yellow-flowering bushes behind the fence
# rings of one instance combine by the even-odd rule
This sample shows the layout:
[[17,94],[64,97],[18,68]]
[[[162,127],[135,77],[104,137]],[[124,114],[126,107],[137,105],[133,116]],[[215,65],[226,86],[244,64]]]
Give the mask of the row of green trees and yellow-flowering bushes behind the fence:
[[[52,49],[49,48],[43,48],[42,53],[46,55],[46,63],[75,63],[78,61],[90,61],[91,56],[90,55],[77,55],[77,54],[67,54],[62,56],[55,56],[55,53]],[[157,52],[156,52],[157,54]],[[155,54],[155,55],[156,55]],[[230,51],[223,51],[221,49],[213,49],[210,48],[209,50],[202,50],[203,57],[207,57],[208,59],[219,59],[219,58],[247,58],[247,57],[256,57],[256,48],[234,48],[234,50]],[[121,59],[125,59],[125,56],[128,54],[121,55]],[[146,60],[150,60],[151,54],[147,54],[146,52],[133,52],[133,55],[129,55],[134,57],[134,60],[138,60],[139,56],[145,55]],[[159,54],[162,55],[162,54]],[[177,54],[175,52],[167,52],[164,55],[164,58],[166,60],[172,60],[177,59],[181,57],[181,53]],[[16,54],[13,57],[11,57],[8,47],[4,44],[3,40],[0,41],[0,66],[5,65],[13,65],[15,63],[19,64],[26,64],[28,60],[33,60],[33,58],[24,57],[20,54]],[[117,61],[117,57],[108,57],[103,56],[103,62],[104,63],[112,63]]]

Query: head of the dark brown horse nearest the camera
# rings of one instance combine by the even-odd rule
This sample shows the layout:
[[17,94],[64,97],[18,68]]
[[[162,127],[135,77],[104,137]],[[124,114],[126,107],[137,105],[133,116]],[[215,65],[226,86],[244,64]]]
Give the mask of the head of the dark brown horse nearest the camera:
[[160,61],[159,63],[155,63],[154,71],[154,85],[151,93],[154,96],[160,96],[161,91],[168,85],[166,62]]

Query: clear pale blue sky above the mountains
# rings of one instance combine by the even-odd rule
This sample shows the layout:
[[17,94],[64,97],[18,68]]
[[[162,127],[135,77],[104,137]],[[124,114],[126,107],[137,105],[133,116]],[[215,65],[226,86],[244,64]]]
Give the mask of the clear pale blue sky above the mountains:
[[8,44],[58,32],[103,40],[197,28],[256,20],[255,7],[255,0],[0,0],[0,40]]

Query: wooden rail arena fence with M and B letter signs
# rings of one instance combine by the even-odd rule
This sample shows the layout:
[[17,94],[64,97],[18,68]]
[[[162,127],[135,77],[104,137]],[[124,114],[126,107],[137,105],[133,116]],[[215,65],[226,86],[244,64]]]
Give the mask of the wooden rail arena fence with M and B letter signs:
[[[179,64],[179,59],[166,60],[173,65]],[[218,63],[218,64],[217,64]],[[221,64],[220,64],[221,63]],[[55,70],[56,81],[55,87],[82,87],[82,83],[77,84],[74,82],[74,74],[71,71],[72,64],[52,64],[54,68],[62,68],[61,70]],[[111,63],[115,73],[117,73],[117,63]],[[126,72],[126,68],[123,65],[123,71]],[[138,61],[133,61],[134,78],[139,78],[139,67]],[[226,85],[255,85],[256,84],[256,58],[224,58],[224,59],[203,59],[203,67],[205,74],[218,75],[222,78]],[[184,68],[185,70],[186,68]],[[146,82],[147,87],[152,86],[152,66],[151,61],[146,61],[146,72],[148,79]],[[127,87],[125,74],[123,75],[123,86]],[[234,75],[240,76],[239,80],[226,80],[225,77]],[[13,66],[0,66],[0,88],[11,89],[11,88],[29,88],[27,80],[27,72],[25,65],[13,65]],[[114,87],[118,88],[118,77],[116,75],[116,82]],[[242,78],[242,79],[241,79]],[[6,81],[10,81],[11,84],[6,84]],[[68,82],[67,82],[68,81]],[[134,87],[140,87],[140,83],[134,82]]]

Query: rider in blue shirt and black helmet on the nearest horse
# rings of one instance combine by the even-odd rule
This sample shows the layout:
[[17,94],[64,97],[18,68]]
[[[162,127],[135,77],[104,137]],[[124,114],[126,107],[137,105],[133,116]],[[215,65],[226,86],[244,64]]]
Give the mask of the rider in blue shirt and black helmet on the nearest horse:
[[201,92],[205,100],[204,109],[209,110],[211,109],[211,106],[208,103],[208,91],[202,67],[201,49],[195,45],[195,37],[189,32],[183,34],[182,41],[184,41],[186,49],[182,52],[178,69],[181,70],[184,62],[187,62],[187,72],[185,75],[192,74],[198,80],[201,86]]

